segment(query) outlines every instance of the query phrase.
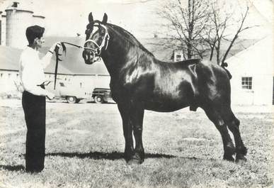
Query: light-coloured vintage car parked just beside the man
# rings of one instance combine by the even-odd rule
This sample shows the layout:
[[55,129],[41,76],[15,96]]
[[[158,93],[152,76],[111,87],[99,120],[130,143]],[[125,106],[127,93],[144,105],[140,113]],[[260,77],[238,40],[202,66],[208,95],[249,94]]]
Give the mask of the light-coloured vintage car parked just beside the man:
[[54,89],[54,82],[47,81],[45,89],[55,94],[55,99],[66,99],[68,103],[79,103],[82,99],[91,99],[91,92],[81,87],[76,87],[69,82],[57,81]]

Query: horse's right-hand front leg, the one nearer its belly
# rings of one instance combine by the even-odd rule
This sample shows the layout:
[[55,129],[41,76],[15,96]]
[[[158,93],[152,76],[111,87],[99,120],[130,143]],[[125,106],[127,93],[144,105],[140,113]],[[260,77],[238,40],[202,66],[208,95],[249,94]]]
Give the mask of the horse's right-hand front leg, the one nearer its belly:
[[133,134],[135,136],[135,151],[129,164],[141,164],[144,162],[144,147],[142,143],[143,119],[144,108],[142,105],[138,102],[132,104],[132,108],[130,109],[130,121],[132,122]]

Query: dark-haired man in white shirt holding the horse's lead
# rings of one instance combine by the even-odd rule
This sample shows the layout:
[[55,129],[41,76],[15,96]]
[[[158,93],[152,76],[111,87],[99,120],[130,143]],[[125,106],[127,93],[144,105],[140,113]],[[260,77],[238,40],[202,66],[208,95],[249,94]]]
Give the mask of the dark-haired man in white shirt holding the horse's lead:
[[44,69],[50,64],[53,51],[60,43],[52,45],[45,57],[38,56],[38,50],[45,42],[43,34],[45,28],[30,26],[25,35],[29,45],[20,57],[19,72],[23,84],[22,106],[27,125],[25,143],[25,171],[41,172],[45,160],[45,96],[53,99],[54,94],[45,90]]

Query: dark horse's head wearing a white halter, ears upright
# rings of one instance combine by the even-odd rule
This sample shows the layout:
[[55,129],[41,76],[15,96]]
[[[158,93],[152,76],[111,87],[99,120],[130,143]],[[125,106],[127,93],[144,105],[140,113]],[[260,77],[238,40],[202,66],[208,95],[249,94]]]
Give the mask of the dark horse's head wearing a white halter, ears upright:
[[83,58],[86,64],[92,64],[101,59],[102,50],[108,48],[108,29],[106,23],[108,16],[104,14],[103,21],[93,21],[89,13],[89,24],[86,26],[86,42],[84,43]]

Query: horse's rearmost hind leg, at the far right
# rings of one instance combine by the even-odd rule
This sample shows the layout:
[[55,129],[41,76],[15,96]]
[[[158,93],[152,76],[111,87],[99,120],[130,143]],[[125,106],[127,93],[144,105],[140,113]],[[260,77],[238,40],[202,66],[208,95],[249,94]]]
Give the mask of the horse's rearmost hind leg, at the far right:
[[241,133],[239,131],[240,121],[234,116],[230,108],[228,113],[224,114],[224,116],[229,130],[232,131],[234,135],[236,145],[236,162],[238,162],[239,160],[246,160],[246,157],[244,157],[244,155],[246,155],[247,149],[246,146],[244,146],[243,140],[241,140]]

